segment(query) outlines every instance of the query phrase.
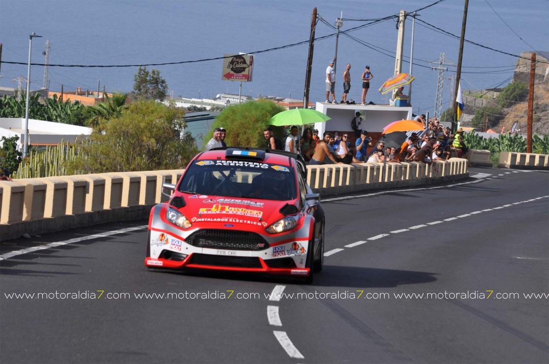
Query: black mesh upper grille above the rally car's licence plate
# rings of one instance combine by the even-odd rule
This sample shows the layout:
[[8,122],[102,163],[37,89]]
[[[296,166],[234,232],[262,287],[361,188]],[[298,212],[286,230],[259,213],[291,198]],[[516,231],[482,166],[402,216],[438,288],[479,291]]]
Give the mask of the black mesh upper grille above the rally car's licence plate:
[[260,251],[269,243],[259,234],[249,231],[203,229],[193,232],[185,242],[199,248]]

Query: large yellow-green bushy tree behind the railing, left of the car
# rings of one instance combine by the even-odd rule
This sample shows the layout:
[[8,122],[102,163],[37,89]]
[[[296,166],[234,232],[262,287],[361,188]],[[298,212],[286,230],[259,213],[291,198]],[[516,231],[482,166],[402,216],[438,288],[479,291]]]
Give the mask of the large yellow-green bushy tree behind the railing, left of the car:
[[184,112],[154,100],[138,100],[119,117],[101,119],[99,128],[79,145],[73,168],[81,173],[182,168],[197,153]]

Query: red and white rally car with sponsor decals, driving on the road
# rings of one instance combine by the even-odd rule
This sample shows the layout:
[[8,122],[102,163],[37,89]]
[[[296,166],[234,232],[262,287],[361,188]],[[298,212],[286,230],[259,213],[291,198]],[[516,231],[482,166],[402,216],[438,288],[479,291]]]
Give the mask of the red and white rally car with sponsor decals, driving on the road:
[[216,148],[199,153],[170,200],[150,212],[145,265],[301,276],[324,260],[324,212],[294,153]]

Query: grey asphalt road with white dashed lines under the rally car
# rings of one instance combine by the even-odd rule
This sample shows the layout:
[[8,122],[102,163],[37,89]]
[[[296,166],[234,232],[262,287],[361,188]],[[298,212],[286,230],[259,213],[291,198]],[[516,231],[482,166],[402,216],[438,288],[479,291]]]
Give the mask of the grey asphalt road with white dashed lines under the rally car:
[[470,175],[325,198],[310,286],[148,270],[144,220],[4,242],[0,362],[549,362],[549,173]]

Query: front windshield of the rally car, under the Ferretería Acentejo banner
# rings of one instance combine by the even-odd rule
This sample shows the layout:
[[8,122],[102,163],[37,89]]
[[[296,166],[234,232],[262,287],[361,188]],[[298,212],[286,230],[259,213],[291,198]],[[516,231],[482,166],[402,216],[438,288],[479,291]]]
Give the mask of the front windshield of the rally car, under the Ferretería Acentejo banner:
[[292,167],[247,161],[194,161],[179,191],[187,194],[260,198],[286,201],[296,198]]

